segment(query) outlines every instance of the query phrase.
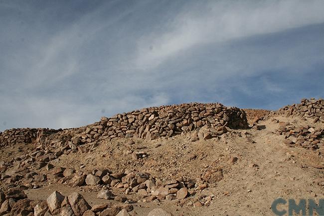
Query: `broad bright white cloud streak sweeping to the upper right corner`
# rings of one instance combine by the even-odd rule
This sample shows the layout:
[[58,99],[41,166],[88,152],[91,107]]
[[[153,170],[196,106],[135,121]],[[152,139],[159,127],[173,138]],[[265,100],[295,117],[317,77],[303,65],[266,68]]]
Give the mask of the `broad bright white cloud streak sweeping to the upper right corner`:
[[139,67],[152,69],[195,45],[324,22],[322,0],[212,1],[195,6],[184,8],[167,23],[166,31],[139,40]]

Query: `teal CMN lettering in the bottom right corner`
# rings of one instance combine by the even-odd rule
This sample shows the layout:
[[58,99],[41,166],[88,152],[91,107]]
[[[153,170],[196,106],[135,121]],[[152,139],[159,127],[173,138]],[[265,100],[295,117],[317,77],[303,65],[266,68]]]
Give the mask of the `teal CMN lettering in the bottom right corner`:
[[[275,200],[271,209],[274,214],[277,216],[284,216],[288,213],[288,216],[292,216],[295,212],[296,215],[302,214],[302,216],[313,216],[313,213],[317,212],[319,216],[324,216],[324,199],[320,199],[319,205],[314,200],[308,200],[308,211],[307,211],[307,201],[302,199],[299,201],[299,204],[296,203],[295,200],[288,200],[288,212],[285,209],[287,201],[279,198]],[[284,205],[284,207],[279,207],[279,205]],[[308,214],[307,214],[308,213]]]

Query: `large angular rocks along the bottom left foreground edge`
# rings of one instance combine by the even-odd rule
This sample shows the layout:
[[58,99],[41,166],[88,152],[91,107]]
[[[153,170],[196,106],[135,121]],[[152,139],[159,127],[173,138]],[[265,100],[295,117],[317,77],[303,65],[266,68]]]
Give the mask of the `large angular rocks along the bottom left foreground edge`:
[[[65,197],[54,191],[45,201],[31,201],[21,188],[0,191],[0,216],[137,216],[130,204],[103,203],[90,206],[79,193]],[[162,209],[148,216],[172,216]]]

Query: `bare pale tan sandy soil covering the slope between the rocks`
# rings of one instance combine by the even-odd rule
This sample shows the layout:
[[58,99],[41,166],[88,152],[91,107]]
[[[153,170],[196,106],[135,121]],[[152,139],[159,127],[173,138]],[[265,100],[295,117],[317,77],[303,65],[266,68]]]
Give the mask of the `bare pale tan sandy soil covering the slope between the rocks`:
[[[313,124],[312,120],[273,116],[259,122],[259,125],[265,125],[263,130],[230,130],[219,140],[190,142],[190,134],[184,134],[153,141],[135,139],[136,144],[133,145],[127,144],[130,139],[102,141],[92,152],[63,155],[54,165],[82,171],[92,171],[95,168],[111,171],[135,169],[165,180],[179,176],[195,180],[208,169],[222,168],[223,180],[190,196],[183,204],[177,200],[162,201],[160,204],[143,203],[137,202],[138,196],[127,197],[134,200],[134,209],[140,216],[146,216],[159,206],[175,216],[273,216],[271,204],[279,197],[286,200],[310,198],[317,202],[324,198],[324,187],[313,183],[315,179],[323,178],[324,170],[314,168],[324,165],[323,149],[312,151],[287,147],[284,136],[271,133],[279,128],[279,124],[272,121],[274,118],[289,121],[296,126],[324,127],[323,123]],[[256,143],[252,143],[251,139]],[[157,147],[157,144],[161,146]],[[11,148],[1,151],[1,157],[19,155],[15,152],[17,147]],[[23,147],[23,150],[27,150],[26,148],[27,146]],[[134,161],[126,150],[144,151],[149,156]],[[193,155],[196,158],[190,160]],[[238,158],[235,164],[229,162],[232,156]],[[257,166],[252,167],[252,164]],[[81,169],[81,165],[85,167]],[[44,200],[54,190],[65,196],[80,191],[90,205],[114,202],[96,198],[101,186],[71,188],[46,184],[40,189],[27,190],[28,197]],[[122,195],[120,189],[114,189],[113,192]],[[215,199],[209,206],[193,207],[201,195],[211,194],[215,195]]]

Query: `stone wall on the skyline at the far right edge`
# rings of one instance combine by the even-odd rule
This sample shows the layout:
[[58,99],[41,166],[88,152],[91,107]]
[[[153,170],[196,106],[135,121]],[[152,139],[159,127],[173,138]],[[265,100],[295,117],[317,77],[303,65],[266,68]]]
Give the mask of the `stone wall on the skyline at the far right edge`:
[[278,110],[279,114],[289,116],[313,117],[315,121],[324,122],[324,99],[303,98],[300,104],[287,105]]

